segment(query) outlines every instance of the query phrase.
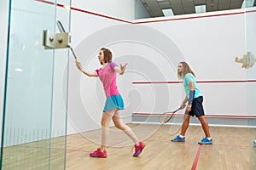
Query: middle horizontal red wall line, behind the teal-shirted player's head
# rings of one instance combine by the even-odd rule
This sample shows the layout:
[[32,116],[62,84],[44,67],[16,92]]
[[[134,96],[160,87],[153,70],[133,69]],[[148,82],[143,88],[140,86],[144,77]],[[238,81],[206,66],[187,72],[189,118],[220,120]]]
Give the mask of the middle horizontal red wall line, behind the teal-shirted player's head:
[[[210,81],[196,81],[197,83],[239,83],[239,82],[256,82],[256,80],[210,80]],[[179,84],[183,82],[132,82],[132,84]]]

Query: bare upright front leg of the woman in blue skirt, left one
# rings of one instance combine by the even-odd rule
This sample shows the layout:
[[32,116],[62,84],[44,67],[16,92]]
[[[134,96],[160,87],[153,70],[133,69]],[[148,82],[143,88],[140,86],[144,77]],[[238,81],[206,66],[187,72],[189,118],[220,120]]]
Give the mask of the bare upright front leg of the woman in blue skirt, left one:
[[105,150],[109,139],[109,123],[116,109],[102,113],[102,145],[101,150]]

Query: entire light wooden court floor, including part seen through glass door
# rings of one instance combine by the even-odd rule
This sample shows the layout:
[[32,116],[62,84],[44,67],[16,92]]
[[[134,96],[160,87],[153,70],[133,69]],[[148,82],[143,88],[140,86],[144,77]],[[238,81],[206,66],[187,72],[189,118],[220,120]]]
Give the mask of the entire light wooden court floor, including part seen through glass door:
[[132,156],[131,139],[111,127],[106,159],[89,156],[100,145],[101,130],[95,130],[67,136],[67,157],[65,138],[4,148],[2,169],[59,170],[65,168],[65,161],[67,170],[256,169],[256,147],[253,148],[256,128],[210,127],[213,144],[200,145],[197,142],[204,137],[201,127],[190,126],[186,142],[172,143],[170,140],[179,133],[179,127],[148,124],[128,126],[147,144],[139,157]]

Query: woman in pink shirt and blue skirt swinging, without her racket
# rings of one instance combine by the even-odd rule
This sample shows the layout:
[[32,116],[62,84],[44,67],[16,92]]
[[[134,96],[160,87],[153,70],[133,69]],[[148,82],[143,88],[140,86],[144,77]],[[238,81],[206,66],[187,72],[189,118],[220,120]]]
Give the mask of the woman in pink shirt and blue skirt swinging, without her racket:
[[125,73],[125,65],[116,65],[112,62],[112,53],[108,48],[101,48],[98,59],[102,65],[102,68],[96,71],[84,71],[79,61],[76,61],[76,65],[80,71],[82,71],[88,77],[100,77],[104,92],[106,94],[106,102],[102,113],[102,145],[97,150],[90,153],[91,157],[107,157],[106,145],[109,138],[109,123],[111,119],[115,127],[124,131],[134,142],[135,152],[133,156],[139,156],[145,147],[145,144],[139,139],[130,127],[125,125],[121,119],[119,110],[125,108],[122,96],[119,94],[119,90],[116,86],[116,72],[119,75]]

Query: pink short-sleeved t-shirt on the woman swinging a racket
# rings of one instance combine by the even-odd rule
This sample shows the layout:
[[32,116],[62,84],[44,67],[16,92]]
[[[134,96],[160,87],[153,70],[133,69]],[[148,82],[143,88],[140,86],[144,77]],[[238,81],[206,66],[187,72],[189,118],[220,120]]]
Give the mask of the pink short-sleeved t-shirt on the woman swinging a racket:
[[105,67],[96,70],[98,77],[102,81],[106,97],[120,95],[116,86],[116,71],[113,69],[115,66],[117,66],[115,63],[110,62]]

